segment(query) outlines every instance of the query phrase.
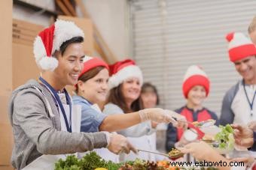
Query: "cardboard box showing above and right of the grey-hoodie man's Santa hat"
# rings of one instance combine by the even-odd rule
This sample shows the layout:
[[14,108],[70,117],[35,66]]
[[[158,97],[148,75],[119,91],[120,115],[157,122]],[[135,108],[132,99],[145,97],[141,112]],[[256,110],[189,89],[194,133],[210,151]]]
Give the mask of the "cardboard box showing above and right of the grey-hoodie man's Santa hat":
[[90,19],[72,16],[58,16],[58,18],[75,22],[84,31],[84,52],[86,55],[93,55],[93,22]]

